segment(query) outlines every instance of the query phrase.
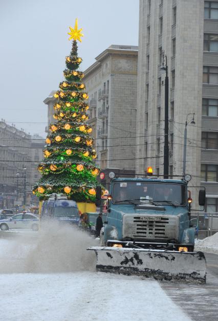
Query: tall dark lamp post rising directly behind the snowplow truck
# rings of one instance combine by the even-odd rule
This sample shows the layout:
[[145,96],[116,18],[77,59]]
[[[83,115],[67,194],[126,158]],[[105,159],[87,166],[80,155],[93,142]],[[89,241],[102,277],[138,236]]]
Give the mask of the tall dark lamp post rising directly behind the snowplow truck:
[[162,50],[161,73],[165,74],[165,102],[164,102],[164,178],[169,176],[169,79],[167,56]]

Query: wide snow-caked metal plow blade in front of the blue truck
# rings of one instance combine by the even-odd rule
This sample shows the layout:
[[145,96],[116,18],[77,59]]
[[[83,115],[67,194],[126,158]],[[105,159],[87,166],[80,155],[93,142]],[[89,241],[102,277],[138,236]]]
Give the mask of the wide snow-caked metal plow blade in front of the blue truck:
[[100,246],[88,250],[96,253],[97,271],[206,283],[206,260],[202,252]]

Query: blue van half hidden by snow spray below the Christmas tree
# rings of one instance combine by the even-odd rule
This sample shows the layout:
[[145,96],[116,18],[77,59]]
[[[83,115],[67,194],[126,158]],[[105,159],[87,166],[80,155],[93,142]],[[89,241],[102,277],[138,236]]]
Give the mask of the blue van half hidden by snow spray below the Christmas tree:
[[43,201],[41,219],[54,219],[59,222],[79,225],[80,216],[77,203],[66,196],[50,197]]

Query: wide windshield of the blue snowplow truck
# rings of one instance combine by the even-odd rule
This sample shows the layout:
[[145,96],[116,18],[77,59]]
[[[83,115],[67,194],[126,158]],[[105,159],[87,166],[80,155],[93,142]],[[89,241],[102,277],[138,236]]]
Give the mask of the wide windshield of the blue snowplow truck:
[[182,184],[160,182],[122,181],[113,186],[112,202],[172,202],[175,205],[186,204],[186,188]]

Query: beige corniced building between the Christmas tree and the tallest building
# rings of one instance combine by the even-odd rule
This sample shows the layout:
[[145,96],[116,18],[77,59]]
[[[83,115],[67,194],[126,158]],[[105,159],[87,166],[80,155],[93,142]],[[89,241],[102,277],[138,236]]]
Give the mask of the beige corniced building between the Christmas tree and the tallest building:
[[84,71],[96,162],[135,170],[138,47],[111,45]]

